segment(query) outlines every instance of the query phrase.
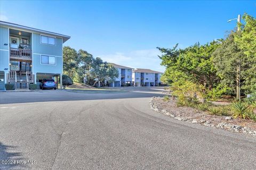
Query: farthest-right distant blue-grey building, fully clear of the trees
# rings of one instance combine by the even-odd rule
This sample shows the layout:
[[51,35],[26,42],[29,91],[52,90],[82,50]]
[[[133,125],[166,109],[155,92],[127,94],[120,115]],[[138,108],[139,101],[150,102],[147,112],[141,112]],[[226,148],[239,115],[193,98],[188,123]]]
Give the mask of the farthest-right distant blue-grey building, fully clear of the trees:
[[159,86],[161,83],[162,72],[149,69],[134,69],[132,71],[133,86]]

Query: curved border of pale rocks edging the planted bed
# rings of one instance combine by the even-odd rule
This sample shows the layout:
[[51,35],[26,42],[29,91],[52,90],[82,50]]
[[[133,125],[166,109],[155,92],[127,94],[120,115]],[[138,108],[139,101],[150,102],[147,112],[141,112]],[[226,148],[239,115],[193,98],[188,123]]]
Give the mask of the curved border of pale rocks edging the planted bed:
[[169,115],[178,121],[197,123],[197,124],[201,124],[201,125],[212,127],[212,128],[224,129],[224,130],[228,130],[231,132],[238,132],[238,133],[248,134],[252,137],[256,137],[256,131],[251,130],[250,128],[247,128],[245,126],[230,124],[230,123],[226,123],[226,122],[221,122],[221,123],[215,125],[215,124],[212,124],[210,121],[206,121],[204,119],[189,119],[186,117],[181,117],[180,115],[175,115],[173,113],[167,112],[165,109],[161,109],[156,105],[154,98],[156,98],[156,97],[152,97],[149,101],[149,106],[151,109],[153,109],[154,111],[156,111],[158,113]]

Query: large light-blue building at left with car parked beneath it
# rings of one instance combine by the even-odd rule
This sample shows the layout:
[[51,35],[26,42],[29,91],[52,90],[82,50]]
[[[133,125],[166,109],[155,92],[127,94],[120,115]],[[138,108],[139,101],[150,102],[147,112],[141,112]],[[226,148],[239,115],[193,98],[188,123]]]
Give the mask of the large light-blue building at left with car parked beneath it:
[[43,79],[55,79],[62,87],[62,44],[69,38],[0,21],[0,90],[4,83],[28,89]]

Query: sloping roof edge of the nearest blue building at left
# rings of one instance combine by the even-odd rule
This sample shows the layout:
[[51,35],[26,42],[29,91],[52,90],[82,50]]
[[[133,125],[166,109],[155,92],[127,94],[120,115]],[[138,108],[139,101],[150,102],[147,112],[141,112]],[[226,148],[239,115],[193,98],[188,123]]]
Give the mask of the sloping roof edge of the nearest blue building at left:
[[15,28],[22,29],[22,30],[25,30],[25,31],[27,30],[27,31],[33,31],[33,32],[38,32],[38,33],[46,33],[47,35],[52,35],[52,36],[56,36],[56,37],[62,38],[63,43],[65,43],[70,38],[70,36],[62,35],[60,33],[40,30],[40,29],[36,29],[36,28],[31,28],[31,27],[26,27],[26,26],[15,24],[15,23],[11,23],[11,22],[0,21],[0,25],[1,26],[11,27],[11,28],[14,28],[14,29]]

